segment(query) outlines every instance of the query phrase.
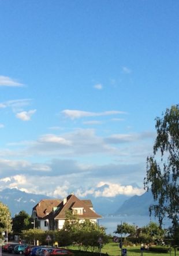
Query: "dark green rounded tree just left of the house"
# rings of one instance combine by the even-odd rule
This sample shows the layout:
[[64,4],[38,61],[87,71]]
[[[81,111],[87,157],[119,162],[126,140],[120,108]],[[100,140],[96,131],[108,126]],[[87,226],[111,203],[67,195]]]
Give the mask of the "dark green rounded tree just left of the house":
[[21,233],[23,230],[32,228],[32,218],[24,210],[16,214],[12,219],[14,233]]

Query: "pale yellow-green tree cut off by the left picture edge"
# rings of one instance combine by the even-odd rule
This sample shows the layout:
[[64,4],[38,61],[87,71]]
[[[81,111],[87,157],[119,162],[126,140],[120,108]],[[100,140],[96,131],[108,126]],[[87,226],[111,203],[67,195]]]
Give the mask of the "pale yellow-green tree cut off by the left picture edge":
[[8,206],[0,202],[0,232],[12,231],[12,219]]

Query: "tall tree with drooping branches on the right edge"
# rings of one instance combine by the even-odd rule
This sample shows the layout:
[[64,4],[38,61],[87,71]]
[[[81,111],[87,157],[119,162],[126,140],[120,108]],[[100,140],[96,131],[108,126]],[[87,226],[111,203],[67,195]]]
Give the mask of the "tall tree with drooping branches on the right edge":
[[178,225],[179,212],[179,105],[173,105],[156,119],[154,152],[147,158],[144,188],[151,189],[156,204],[150,206],[162,225],[167,217]]

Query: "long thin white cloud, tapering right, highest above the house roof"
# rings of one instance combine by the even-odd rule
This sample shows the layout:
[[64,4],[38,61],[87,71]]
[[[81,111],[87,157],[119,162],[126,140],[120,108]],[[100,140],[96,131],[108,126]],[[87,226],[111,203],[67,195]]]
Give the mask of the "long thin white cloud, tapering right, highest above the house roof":
[[78,119],[84,118],[89,116],[107,116],[107,115],[118,115],[118,114],[126,114],[123,111],[105,111],[105,112],[87,112],[87,111],[80,111],[80,110],[70,110],[65,109],[62,111],[66,117],[70,119]]

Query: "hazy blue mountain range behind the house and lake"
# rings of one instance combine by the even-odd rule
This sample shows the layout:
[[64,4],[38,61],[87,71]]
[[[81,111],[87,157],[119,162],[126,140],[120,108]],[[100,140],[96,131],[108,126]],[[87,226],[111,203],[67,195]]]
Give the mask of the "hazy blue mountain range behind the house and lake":
[[[50,198],[46,195],[25,193],[15,188],[6,188],[0,191],[0,200],[9,207],[12,217],[21,210],[25,210],[31,215],[33,206],[42,199]],[[114,198],[90,196],[87,199],[92,201],[96,213],[101,215],[148,215],[148,207],[154,203],[151,192],[130,198],[129,196],[118,195]]]

